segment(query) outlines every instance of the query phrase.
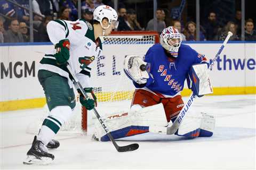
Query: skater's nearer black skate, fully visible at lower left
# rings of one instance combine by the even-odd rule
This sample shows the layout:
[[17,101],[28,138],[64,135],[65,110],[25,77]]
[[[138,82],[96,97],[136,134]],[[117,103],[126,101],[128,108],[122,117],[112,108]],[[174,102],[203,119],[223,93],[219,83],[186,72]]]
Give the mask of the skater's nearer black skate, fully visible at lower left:
[[44,143],[37,140],[36,136],[32,143],[31,148],[27,152],[27,159],[23,164],[38,164],[47,165],[50,164],[54,159],[54,155],[48,153],[48,149],[44,146]]

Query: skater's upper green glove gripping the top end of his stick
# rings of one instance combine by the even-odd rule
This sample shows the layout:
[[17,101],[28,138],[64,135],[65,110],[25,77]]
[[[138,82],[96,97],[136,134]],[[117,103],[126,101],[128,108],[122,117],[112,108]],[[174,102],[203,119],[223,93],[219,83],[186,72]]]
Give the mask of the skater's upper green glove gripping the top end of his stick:
[[69,59],[70,43],[68,39],[62,39],[55,45],[56,53],[53,55],[56,58],[58,65],[66,64]]

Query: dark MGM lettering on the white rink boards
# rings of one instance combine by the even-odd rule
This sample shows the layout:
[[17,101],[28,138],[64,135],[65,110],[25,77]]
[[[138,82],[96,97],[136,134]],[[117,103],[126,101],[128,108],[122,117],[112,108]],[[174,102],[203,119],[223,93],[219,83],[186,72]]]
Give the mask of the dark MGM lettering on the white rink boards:
[[22,78],[22,77],[35,77],[35,61],[31,64],[28,62],[10,62],[8,65],[1,62],[1,79],[9,77]]

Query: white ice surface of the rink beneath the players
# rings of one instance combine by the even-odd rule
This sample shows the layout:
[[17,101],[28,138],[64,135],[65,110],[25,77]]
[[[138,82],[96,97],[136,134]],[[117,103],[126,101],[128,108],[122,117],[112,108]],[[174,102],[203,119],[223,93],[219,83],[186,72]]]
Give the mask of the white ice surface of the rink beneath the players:
[[[186,98],[184,98],[186,101]],[[211,138],[184,139],[146,133],[123,140],[138,150],[117,152],[111,142],[90,135],[57,135],[60,147],[50,152],[51,165],[23,165],[34,135],[27,134],[42,108],[1,113],[0,169],[254,169],[255,95],[204,96],[193,107],[216,118]]]

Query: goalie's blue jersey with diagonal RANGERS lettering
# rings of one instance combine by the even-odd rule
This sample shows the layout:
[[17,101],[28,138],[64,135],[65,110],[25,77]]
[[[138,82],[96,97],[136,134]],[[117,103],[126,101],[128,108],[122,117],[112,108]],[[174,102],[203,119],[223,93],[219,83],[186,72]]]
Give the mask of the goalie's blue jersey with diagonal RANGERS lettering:
[[[167,57],[161,44],[155,44],[145,56],[145,62],[150,63],[150,78],[143,89],[160,97],[174,97],[182,91],[191,65],[204,60],[204,55],[185,44],[181,44],[177,58]],[[133,83],[141,88],[140,84]]]

